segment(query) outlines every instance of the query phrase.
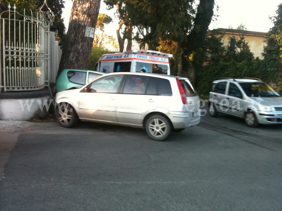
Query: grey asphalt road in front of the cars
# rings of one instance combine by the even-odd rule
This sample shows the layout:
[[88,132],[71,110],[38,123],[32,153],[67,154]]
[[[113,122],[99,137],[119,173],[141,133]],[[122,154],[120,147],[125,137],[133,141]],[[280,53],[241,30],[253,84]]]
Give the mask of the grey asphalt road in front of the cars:
[[164,142],[90,122],[2,130],[19,136],[0,180],[0,210],[281,211],[281,129],[219,115]]

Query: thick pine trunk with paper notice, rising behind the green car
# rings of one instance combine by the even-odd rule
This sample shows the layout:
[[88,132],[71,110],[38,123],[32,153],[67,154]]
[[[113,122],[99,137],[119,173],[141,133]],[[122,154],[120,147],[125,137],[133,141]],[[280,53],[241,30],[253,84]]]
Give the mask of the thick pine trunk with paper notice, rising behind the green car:
[[[73,0],[66,45],[63,49],[58,75],[63,69],[87,69],[93,38],[85,37],[86,27],[95,29],[100,0]],[[94,31],[95,32],[95,31]]]

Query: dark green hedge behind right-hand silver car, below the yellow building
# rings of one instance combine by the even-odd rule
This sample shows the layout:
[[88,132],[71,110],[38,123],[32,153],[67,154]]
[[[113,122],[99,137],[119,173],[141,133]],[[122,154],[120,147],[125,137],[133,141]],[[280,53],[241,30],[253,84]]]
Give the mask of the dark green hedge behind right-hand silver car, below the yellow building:
[[208,94],[212,82],[220,77],[244,78],[254,77],[265,79],[264,62],[254,58],[244,37],[235,39],[235,48],[224,47],[221,36],[210,35],[206,39],[208,63],[205,66],[195,66],[197,69],[197,91]]

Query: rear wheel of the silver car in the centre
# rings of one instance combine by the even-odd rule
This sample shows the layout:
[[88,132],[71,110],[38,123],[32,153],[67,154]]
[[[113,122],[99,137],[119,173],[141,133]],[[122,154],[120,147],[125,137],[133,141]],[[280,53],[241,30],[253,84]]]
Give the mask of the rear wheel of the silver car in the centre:
[[167,118],[161,115],[152,115],[145,122],[147,135],[155,141],[165,140],[169,136],[171,128]]

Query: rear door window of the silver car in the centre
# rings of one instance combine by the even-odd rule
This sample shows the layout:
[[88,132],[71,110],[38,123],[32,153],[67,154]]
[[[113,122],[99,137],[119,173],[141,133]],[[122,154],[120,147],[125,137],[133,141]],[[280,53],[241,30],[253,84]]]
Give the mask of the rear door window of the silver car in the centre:
[[125,80],[124,94],[145,94],[150,77],[140,75],[128,75]]

